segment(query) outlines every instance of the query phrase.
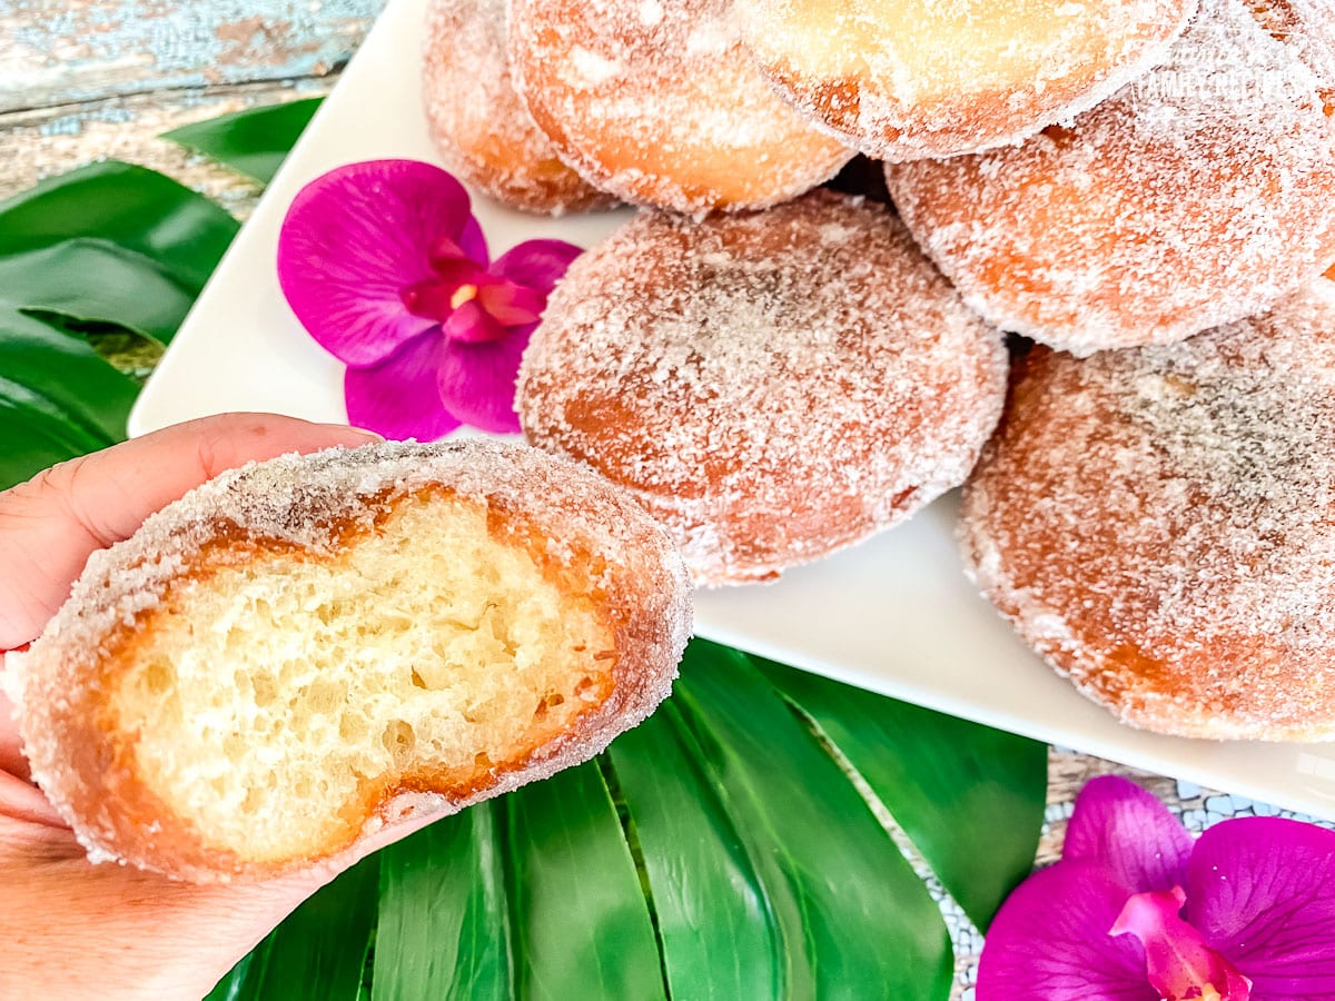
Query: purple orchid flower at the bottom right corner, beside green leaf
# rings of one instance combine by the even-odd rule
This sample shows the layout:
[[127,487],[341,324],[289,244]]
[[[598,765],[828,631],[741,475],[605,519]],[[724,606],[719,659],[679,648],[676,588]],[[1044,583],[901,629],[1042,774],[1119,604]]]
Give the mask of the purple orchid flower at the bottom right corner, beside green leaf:
[[977,998],[1335,998],[1335,831],[1246,817],[1192,844],[1153,795],[1096,778],[1061,861],[993,920]]

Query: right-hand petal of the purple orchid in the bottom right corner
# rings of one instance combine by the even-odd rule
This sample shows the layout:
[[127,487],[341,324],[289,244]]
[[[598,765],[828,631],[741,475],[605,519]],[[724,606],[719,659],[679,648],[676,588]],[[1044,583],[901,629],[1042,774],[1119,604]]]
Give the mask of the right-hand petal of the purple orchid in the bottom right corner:
[[1187,901],[1255,1001],[1335,997],[1335,831],[1279,817],[1216,823],[1191,856]]

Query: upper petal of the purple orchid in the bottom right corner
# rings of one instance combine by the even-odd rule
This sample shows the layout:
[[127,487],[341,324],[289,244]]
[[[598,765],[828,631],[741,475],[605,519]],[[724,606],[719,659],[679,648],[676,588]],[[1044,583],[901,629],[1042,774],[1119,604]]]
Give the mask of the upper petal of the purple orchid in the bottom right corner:
[[1103,866],[1132,893],[1187,882],[1191,836],[1152,794],[1116,775],[1091,779],[1076,798],[1061,857]]

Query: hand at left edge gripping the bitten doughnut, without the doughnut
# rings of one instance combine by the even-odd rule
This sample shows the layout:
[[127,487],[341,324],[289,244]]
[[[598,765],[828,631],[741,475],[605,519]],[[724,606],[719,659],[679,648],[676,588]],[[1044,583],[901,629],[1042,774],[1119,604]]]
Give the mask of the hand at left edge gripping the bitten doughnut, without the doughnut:
[[[286,418],[235,415],[170,428],[75,459],[0,494],[0,649],[35,639],[88,557],[232,466],[374,436]],[[5,665],[7,667],[7,665]],[[92,865],[28,782],[17,722],[0,693],[0,996],[198,998],[334,876],[195,886]]]

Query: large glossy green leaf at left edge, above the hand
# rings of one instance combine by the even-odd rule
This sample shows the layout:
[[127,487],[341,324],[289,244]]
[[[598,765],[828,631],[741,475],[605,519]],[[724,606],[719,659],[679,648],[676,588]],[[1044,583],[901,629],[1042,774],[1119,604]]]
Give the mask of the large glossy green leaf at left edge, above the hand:
[[0,488],[124,438],[138,383],[79,328],[168,340],[235,232],[202,195],[113,161],[0,203]]

